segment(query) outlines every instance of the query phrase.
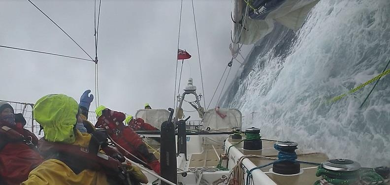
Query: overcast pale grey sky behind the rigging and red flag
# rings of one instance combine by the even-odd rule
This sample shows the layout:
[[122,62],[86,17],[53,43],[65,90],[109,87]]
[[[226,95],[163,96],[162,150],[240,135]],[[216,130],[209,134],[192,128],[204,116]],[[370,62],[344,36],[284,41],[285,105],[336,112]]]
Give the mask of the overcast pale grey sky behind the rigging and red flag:
[[[94,0],[33,2],[94,58]],[[231,57],[231,2],[194,0],[194,5],[207,105]],[[201,93],[191,0],[184,0],[182,14],[180,48],[193,57],[185,61],[181,89],[191,68]],[[100,104],[129,114],[145,102],[152,108],[172,107],[179,15],[180,0],[102,0]],[[27,0],[0,0],[0,45],[88,59]],[[78,101],[84,90],[95,89],[93,62],[4,48],[0,48],[0,62],[0,99],[34,103],[48,93],[65,93]],[[230,77],[238,67],[235,62]],[[95,102],[91,110],[95,110]]]

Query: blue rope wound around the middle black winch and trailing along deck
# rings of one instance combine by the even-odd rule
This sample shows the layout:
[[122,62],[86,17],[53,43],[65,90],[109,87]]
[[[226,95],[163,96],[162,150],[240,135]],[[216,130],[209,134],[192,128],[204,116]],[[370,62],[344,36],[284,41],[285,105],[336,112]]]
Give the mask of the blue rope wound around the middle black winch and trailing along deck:
[[[317,162],[307,162],[307,161],[296,160],[298,157],[294,151],[292,153],[286,152],[286,151],[284,151],[284,147],[281,147],[279,145],[274,144],[274,149],[279,151],[278,160],[275,160],[275,161],[270,162],[268,164],[264,164],[264,165],[252,168],[250,170],[247,170],[247,173],[248,173],[248,175],[246,177],[246,180],[247,180],[246,184],[247,185],[249,185],[249,181],[252,178],[252,172],[254,170],[264,168],[264,167],[267,167],[267,166],[272,165],[272,164],[276,164],[276,163],[280,163],[280,162],[284,162],[284,161],[291,161],[291,162],[299,162],[299,163],[304,163],[304,164],[321,165],[321,163],[317,163]],[[297,148],[295,147],[294,150],[296,150],[296,149]]]

